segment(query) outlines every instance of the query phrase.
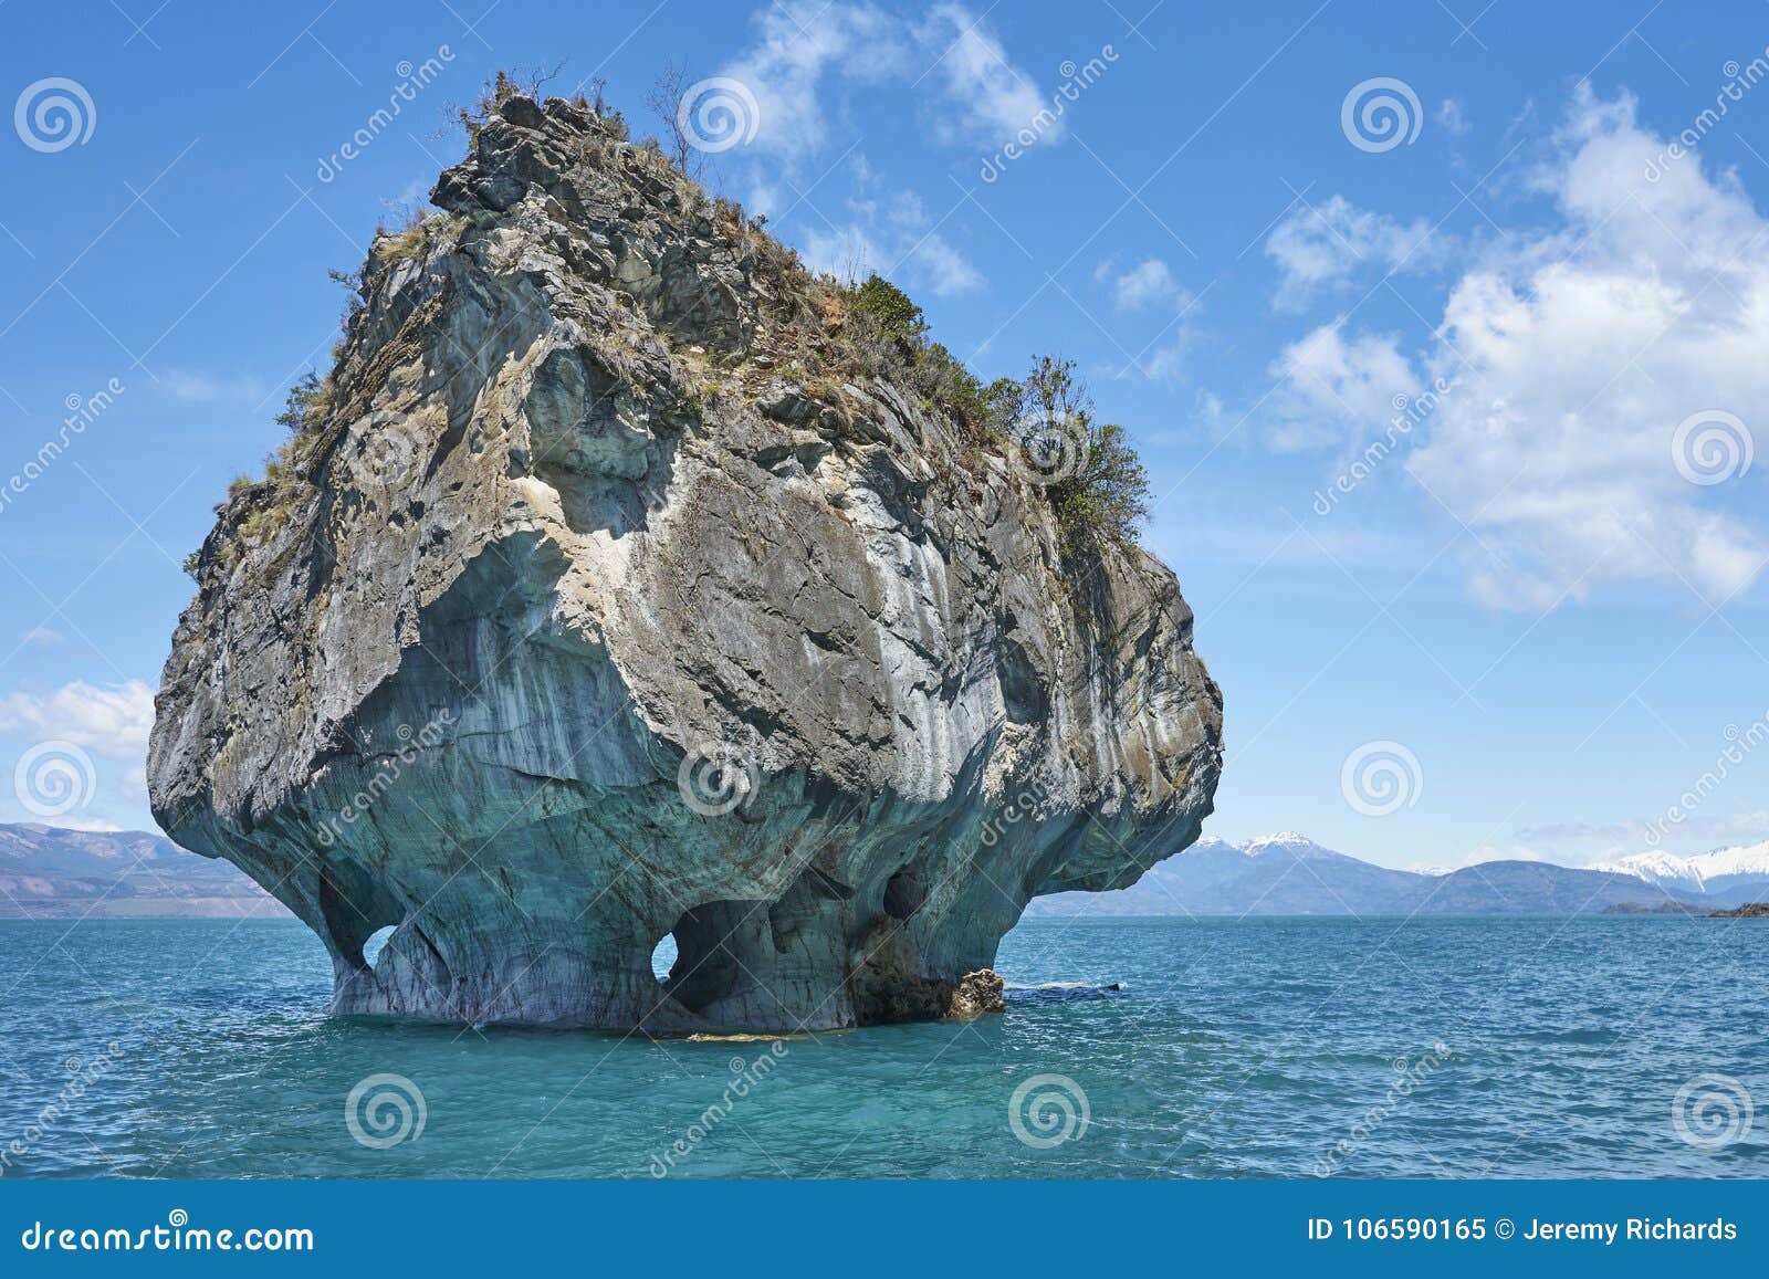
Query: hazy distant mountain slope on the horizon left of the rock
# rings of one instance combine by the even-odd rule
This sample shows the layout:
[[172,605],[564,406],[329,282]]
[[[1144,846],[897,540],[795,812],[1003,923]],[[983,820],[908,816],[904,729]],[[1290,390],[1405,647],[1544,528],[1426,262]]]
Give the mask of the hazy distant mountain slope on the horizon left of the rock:
[[0,920],[285,916],[232,862],[165,835],[0,823]]

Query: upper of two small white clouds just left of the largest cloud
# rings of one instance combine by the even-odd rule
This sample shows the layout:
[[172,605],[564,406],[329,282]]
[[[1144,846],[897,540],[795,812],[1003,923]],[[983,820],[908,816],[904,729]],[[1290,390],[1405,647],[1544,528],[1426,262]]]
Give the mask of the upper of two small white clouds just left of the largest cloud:
[[1265,241],[1265,253],[1279,269],[1277,304],[1284,310],[1343,288],[1359,272],[1435,271],[1452,248],[1452,239],[1442,228],[1433,232],[1424,218],[1401,223],[1339,195],[1320,205],[1297,205]]

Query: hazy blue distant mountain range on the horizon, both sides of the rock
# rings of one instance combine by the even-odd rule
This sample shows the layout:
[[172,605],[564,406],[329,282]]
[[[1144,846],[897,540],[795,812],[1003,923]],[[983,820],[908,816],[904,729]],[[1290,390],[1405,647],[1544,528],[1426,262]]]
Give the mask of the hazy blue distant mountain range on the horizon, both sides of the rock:
[[[1597,915],[1769,900],[1769,842],[1695,856],[1636,853],[1587,869],[1481,862],[1389,870],[1293,831],[1201,839],[1109,893],[1038,897],[1026,915]],[[0,918],[283,916],[228,862],[163,835],[0,823]]]

